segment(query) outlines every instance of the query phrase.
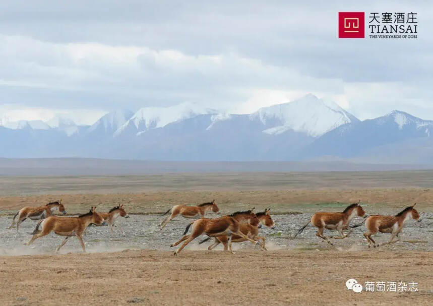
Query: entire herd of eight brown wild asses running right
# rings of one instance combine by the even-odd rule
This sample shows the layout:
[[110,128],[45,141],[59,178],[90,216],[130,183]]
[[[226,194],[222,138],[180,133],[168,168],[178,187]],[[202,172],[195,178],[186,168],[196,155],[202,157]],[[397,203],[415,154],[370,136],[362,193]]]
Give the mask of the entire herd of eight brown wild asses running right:
[[[331,242],[330,238],[346,238],[352,232],[352,229],[349,228],[358,227],[365,223],[366,231],[363,235],[368,242],[368,248],[376,248],[380,245],[383,246],[385,244],[399,241],[400,238],[398,235],[408,219],[414,219],[418,222],[421,221],[419,213],[414,208],[415,204],[406,207],[395,216],[367,216],[359,203],[360,200],[358,203],[347,206],[342,212],[315,213],[311,217],[310,221],[297,231],[294,238],[301,233],[308,224],[312,223],[318,228],[316,235],[333,246],[334,244]],[[174,251],[175,255],[187,246],[188,243],[202,234],[205,234],[208,237],[199,243],[204,243],[211,238],[214,238],[213,243],[209,246],[208,250],[212,250],[218,246],[219,243],[223,243],[224,251],[230,251],[234,254],[231,246],[232,242],[242,241],[250,241],[255,244],[260,241],[260,250],[266,250],[266,238],[259,235],[259,228],[262,227],[262,225],[269,228],[275,227],[275,222],[271,217],[270,209],[265,209],[264,212],[255,213],[253,208],[251,210],[238,211],[230,215],[213,219],[205,218],[206,213],[210,210],[214,213],[219,212],[215,200],[194,206],[175,205],[163,214],[164,216],[169,213],[160,224],[161,230],[177,215],[181,215],[184,218],[196,219],[187,225],[182,237],[171,244],[170,247],[175,247],[183,242],[181,246]],[[61,203],[61,200],[50,202],[40,207],[24,207],[15,214],[9,228],[16,227],[18,231],[19,225],[27,218],[31,220],[39,220],[35,230],[32,232],[32,238],[28,243],[26,243],[27,245],[33,243],[35,239],[54,231],[57,235],[65,236],[65,239],[57,248],[57,252],[72,236],[77,236],[80,240],[83,252],[86,252],[82,235],[90,224],[103,225],[107,223],[110,230],[113,231],[113,225],[117,217],[129,217],[123,205],[115,206],[107,213],[98,213],[96,212],[96,207],[92,207],[89,212],[79,216],[53,215],[55,211],[58,211],[63,215],[67,214],[65,206]],[[363,217],[364,220],[359,224],[349,225],[350,220],[355,216]],[[191,234],[188,234],[190,228]],[[323,233],[324,229],[337,230],[340,235],[326,237]],[[344,230],[347,230],[347,232],[345,233]],[[378,232],[391,233],[391,239],[382,244],[377,243],[373,239],[372,235],[375,235]],[[395,238],[397,239],[394,240]]]

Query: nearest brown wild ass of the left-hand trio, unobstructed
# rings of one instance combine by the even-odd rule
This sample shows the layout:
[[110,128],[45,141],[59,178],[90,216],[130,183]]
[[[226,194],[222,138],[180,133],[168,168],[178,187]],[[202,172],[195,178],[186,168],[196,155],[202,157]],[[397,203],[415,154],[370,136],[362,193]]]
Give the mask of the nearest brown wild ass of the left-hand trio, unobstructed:
[[[83,232],[86,230],[90,223],[95,225],[102,225],[105,223],[104,219],[95,211],[96,207],[92,207],[86,214],[78,217],[58,217],[50,216],[43,220],[40,220],[33,231],[33,237],[27,243],[27,246],[33,243],[37,238],[43,237],[50,232],[54,231],[57,235],[66,236],[65,240],[61,242],[57,248],[57,252],[63,247],[69,237],[77,236],[80,240],[83,252],[86,252],[83,241]],[[41,228],[39,230],[39,227]]]

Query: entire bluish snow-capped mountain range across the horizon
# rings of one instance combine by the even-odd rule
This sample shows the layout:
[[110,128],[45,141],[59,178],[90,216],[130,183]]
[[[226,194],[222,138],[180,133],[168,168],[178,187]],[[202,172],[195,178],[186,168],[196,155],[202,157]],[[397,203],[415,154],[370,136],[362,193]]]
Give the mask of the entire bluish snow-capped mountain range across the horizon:
[[[5,120],[4,120],[5,121]],[[402,111],[360,121],[307,95],[252,114],[182,103],[116,110],[92,126],[64,116],[0,125],[0,157],[297,161],[354,159],[433,164],[433,121]],[[9,121],[8,121],[9,123]],[[11,123],[9,123],[11,124]]]

